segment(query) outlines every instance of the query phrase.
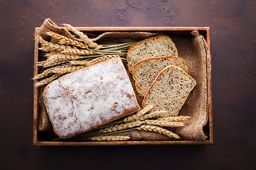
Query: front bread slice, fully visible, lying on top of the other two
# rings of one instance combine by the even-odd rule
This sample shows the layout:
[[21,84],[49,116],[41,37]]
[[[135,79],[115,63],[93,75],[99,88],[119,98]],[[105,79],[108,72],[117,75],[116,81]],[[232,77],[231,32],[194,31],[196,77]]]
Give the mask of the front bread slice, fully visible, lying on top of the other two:
[[154,111],[169,111],[176,116],[195,86],[195,79],[180,67],[171,65],[158,74],[142,106],[154,105]]

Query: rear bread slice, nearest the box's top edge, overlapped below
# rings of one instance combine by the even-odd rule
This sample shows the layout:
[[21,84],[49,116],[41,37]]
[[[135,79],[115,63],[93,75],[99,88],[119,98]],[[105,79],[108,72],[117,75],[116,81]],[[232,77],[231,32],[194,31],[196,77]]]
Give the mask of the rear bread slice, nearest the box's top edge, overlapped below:
[[127,62],[129,72],[133,74],[134,65],[152,57],[178,56],[178,51],[171,38],[164,35],[148,38],[129,47]]

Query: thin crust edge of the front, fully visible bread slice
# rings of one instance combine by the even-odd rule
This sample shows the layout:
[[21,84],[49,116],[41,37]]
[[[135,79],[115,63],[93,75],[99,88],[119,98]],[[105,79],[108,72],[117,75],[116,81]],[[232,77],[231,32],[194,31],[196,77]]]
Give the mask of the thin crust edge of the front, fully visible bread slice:
[[[168,69],[171,69],[171,68],[178,68],[178,69],[180,69],[184,74],[186,74],[186,76],[188,76],[189,79],[193,79],[193,77],[191,77],[188,73],[184,72],[184,70],[181,69],[180,67],[176,67],[176,66],[174,66],[174,65],[171,65],[171,66],[169,66],[169,67],[166,67],[165,69],[163,69],[163,70],[158,74],[158,76],[157,76],[156,79],[154,80],[153,84],[151,84],[151,86],[149,87],[149,90],[146,92],[146,95],[144,96],[144,99],[143,99],[143,101],[142,101],[142,107],[143,107],[143,108],[145,107],[146,97],[149,96],[149,94],[150,94],[150,92],[151,92],[151,89],[153,89],[153,87],[154,87],[154,84],[156,84],[156,82],[159,81],[159,79],[160,79],[160,77],[161,77],[161,74],[163,74],[164,72],[166,72]],[[193,79],[193,80],[196,82],[195,79]],[[196,84],[195,84],[195,86],[196,86]],[[191,89],[191,91],[192,91],[192,90],[193,90],[193,89]],[[188,94],[190,94],[191,91],[189,91]],[[189,95],[186,96],[185,100],[184,100],[183,103],[181,104],[181,107],[180,107],[180,108],[178,109],[178,111],[175,113],[175,116],[178,115],[178,112],[181,110],[181,108],[182,108],[182,106],[184,105],[184,103],[186,102],[186,99],[188,98],[188,96],[189,96]]]

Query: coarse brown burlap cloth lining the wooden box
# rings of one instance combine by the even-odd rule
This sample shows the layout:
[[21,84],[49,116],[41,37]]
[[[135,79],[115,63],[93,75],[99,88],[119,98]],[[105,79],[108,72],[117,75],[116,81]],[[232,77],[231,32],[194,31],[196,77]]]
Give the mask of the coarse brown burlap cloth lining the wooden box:
[[[75,37],[73,34],[65,30],[63,27],[58,27],[46,19],[40,28],[39,34],[50,42],[58,42],[53,38],[50,39],[45,33],[47,31],[53,31],[59,33],[60,35],[65,35],[73,40],[80,39]],[[138,41],[144,40],[156,35],[164,35],[163,33],[148,33],[148,32],[107,32],[107,33],[87,33],[87,36],[95,40],[98,44],[116,44],[122,42]],[[168,34],[167,34],[168,35]],[[193,36],[192,36],[193,35]],[[196,79],[196,87],[191,91],[188,96],[186,103],[181,108],[178,115],[189,115],[192,118],[188,121],[187,125],[183,128],[173,128],[174,132],[180,135],[183,140],[206,140],[207,135],[203,131],[203,126],[208,123],[208,96],[210,94],[210,50],[206,44],[206,40],[202,35],[199,35],[197,30],[191,32],[191,37],[179,38],[172,37],[177,50],[178,57],[183,58],[188,66],[188,74]],[[127,68],[127,63],[124,62],[124,66]],[[128,69],[127,69],[128,70]],[[127,71],[130,80],[132,81],[132,86],[134,87],[134,81],[132,75]],[[43,87],[39,88],[42,91]],[[140,106],[142,106],[143,98],[137,94],[137,100]],[[39,119],[39,130],[49,131],[52,129],[50,125],[50,120],[46,112],[46,108],[43,105],[42,97],[39,96],[40,108],[40,119]],[[131,140],[172,140],[166,135],[161,135],[156,132],[148,132],[142,130],[132,130],[128,132],[122,132],[118,135],[129,135]],[[77,139],[81,139],[80,137]]]

